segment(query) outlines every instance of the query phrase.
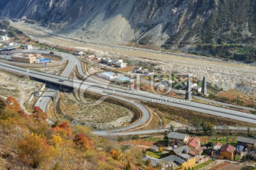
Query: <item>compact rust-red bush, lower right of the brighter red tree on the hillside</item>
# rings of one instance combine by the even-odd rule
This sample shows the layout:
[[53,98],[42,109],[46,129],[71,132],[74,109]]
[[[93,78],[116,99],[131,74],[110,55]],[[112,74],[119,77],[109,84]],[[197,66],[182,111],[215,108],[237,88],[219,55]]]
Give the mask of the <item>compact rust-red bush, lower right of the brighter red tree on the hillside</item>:
[[80,147],[80,149],[85,149],[85,150],[90,150],[92,149],[94,142],[92,140],[90,140],[89,137],[87,137],[85,134],[78,134],[75,135],[74,140],[75,145],[78,145],[78,147]]

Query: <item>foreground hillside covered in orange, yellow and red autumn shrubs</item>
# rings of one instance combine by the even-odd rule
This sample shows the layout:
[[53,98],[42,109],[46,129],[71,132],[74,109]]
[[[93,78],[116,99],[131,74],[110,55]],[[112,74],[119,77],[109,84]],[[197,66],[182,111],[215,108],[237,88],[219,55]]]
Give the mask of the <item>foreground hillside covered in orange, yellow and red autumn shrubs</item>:
[[1,169],[148,169],[139,149],[122,149],[88,128],[49,125],[46,119],[40,108],[26,115],[15,98],[0,98]]

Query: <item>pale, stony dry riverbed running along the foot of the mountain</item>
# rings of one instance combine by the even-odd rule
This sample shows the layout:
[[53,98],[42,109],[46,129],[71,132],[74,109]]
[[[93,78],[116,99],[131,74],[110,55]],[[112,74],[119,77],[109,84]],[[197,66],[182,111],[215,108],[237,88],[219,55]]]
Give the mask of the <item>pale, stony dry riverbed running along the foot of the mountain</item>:
[[256,67],[236,62],[224,62],[207,57],[182,57],[168,55],[151,50],[142,50],[119,45],[101,45],[81,42],[72,38],[50,35],[50,30],[33,28],[24,23],[11,23],[27,35],[40,42],[62,45],[80,50],[92,50],[97,55],[131,57],[134,60],[151,60],[158,62],[162,70],[176,74],[192,74],[197,79],[203,76],[215,87],[223,90],[237,89],[245,92],[256,92]]

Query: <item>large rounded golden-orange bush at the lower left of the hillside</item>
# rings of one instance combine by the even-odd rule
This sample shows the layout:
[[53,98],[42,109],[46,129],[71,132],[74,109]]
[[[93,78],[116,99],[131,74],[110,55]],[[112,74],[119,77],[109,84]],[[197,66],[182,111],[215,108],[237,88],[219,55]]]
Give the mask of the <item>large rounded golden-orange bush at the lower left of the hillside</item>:
[[33,168],[40,167],[48,159],[49,149],[47,141],[33,133],[18,142],[18,156],[24,164]]

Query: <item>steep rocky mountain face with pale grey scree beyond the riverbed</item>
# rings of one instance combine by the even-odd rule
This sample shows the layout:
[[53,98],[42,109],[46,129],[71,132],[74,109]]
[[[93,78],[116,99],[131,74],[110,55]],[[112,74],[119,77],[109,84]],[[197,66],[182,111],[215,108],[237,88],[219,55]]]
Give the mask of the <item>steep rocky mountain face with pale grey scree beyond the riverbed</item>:
[[104,42],[244,42],[256,34],[253,0],[1,0],[1,18]]

